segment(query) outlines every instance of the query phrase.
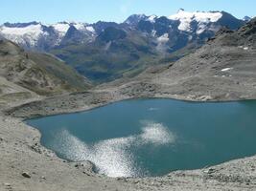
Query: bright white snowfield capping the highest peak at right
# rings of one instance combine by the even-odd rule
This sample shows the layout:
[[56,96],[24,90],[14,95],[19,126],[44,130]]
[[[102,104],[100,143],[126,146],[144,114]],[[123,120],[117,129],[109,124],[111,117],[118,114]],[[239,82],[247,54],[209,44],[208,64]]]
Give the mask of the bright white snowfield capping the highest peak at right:
[[178,20],[180,24],[178,29],[180,31],[190,32],[191,31],[191,22],[197,21],[198,25],[202,27],[202,25],[206,25],[210,22],[217,22],[221,19],[222,13],[220,11],[184,11],[180,9],[174,15],[169,16],[168,18],[171,20]]

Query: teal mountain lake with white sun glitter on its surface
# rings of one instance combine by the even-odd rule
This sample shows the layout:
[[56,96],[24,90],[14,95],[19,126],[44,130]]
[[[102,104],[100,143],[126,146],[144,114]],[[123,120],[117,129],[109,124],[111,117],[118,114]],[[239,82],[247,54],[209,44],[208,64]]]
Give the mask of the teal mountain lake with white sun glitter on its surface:
[[60,158],[110,177],[159,176],[256,154],[256,101],[136,99],[27,120]]

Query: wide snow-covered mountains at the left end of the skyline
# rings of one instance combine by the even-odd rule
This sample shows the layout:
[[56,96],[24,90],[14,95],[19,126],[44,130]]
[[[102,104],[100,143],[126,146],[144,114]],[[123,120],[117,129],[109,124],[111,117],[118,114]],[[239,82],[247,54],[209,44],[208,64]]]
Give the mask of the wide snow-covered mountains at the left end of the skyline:
[[[70,27],[75,27],[78,31],[86,32],[89,35],[94,35],[95,31],[92,26],[80,22],[58,22],[56,24],[41,24],[38,22],[30,23],[5,23],[0,26],[0,36],[3,36],[13,42],[26,47],[33,48],[41,40],[45,40],[54,35],[54,40],[51,40],[52,46],[58,45]],[[54,29],[54,33],[53,33]]]

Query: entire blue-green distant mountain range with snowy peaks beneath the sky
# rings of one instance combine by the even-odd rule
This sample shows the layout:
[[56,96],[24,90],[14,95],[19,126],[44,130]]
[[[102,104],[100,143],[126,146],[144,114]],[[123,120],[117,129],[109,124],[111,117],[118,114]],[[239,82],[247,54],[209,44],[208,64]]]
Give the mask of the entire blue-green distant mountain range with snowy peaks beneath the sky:
[[25,50],[53,53],[96,83],[134,76],[148,66],[193,53],[221,28],[236,30],[249,20],[225,11],[171,16],[134,14],[123,23],[5,23],[0,36]]

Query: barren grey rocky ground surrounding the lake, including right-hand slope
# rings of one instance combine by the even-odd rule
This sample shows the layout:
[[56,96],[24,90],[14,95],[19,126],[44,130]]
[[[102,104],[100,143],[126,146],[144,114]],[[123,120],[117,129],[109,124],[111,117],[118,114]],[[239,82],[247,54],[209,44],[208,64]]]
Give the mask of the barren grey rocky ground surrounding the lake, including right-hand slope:
[[[5,101],[1,106],[0,190],[256,190],[255,156],[176,171],[164,177],[112,179],[94,174],[90,162],[58,159],[40,145],[38,131],[22,121],[128,98],[255,99],[255,26],[253,19],[237,32],[223,30],[196,53],[169,66],[154,67],[132,79],[117,80],[83,93],[47,98],[32,93],[20,100],[19,94],[14,94],[15,102]],[[12,86],[11,83],[3,82],[2,86]],[[16,87],[15,91],[23,90]]]

